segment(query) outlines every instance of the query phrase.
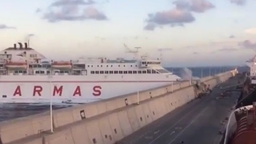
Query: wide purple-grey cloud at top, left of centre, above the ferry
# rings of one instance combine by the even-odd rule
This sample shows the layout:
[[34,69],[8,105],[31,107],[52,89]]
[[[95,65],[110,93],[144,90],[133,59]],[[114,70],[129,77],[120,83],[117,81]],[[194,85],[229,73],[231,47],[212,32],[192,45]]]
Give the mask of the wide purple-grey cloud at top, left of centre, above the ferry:
[[58,0],[50,4],[49,10],[42,18],[48,22],[107,20],[105,14],[92,6],[94,3],[92,0]]

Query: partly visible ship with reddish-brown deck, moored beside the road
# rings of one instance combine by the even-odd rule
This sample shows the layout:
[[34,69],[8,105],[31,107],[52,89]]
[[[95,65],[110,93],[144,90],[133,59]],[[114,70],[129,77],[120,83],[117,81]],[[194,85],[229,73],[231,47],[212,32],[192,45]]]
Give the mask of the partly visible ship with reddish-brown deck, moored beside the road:
[[250,67],[250,73],[246,74],[241,100],[234,106],[227,122],[224,144],[256,143],[256,56],[246,65]]

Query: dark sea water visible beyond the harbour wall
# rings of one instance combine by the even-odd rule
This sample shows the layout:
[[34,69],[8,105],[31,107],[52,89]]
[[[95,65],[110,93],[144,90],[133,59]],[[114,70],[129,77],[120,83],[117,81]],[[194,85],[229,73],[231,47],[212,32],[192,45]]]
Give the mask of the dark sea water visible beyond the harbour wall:
[[[223,73],[228,70],[234,70],[238,66],[212,66],[212,67],[190,67],[188,68],[195,78],[203,78],[208,77],[210,75]],[[167,70],[172,71],[174,74],[181,76],[181,71],[184,68],[178,67],[167,67]],[[239,66],[238,72],[242,73],[245,71],[249,71],[250,68],[247,66]],[[53,109],[61,109],[62,107],[54,106]],[[0,105],[0,122],[10,120],[12,118],[21,118],[26,117],[32,114],[39,114],[46,110],[50,110],[50,106],[17,106],[17,105]]]

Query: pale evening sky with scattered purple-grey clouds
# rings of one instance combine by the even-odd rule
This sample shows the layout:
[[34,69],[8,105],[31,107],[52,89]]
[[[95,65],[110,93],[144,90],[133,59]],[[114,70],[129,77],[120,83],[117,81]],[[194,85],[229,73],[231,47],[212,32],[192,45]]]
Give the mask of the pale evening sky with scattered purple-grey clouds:
[[[243,65],[256,52],[254,0],[8,0],[1,49],[27,42],[50,59],[162,58],[166,66]],[[161,56],[160,56],[161,55]]]

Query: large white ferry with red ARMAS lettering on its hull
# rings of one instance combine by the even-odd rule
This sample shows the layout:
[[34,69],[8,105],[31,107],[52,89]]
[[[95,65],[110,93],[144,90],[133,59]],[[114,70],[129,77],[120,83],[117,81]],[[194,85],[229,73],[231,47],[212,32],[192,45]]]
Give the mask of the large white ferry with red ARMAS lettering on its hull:
[[180,80],[146,56],[54,61],[27,42],[0,51],[0,103],[87,103]]

